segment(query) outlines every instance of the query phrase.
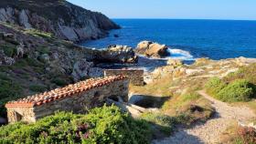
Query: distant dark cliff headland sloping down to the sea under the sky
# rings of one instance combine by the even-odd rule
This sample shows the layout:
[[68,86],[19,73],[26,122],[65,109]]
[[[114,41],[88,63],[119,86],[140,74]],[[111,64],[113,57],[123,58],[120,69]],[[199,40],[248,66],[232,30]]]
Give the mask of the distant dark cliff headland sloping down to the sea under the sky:
[[71,41],[98,39],[120,28],[107,16],[65,0],[0,1],[0,21],[51,32]]

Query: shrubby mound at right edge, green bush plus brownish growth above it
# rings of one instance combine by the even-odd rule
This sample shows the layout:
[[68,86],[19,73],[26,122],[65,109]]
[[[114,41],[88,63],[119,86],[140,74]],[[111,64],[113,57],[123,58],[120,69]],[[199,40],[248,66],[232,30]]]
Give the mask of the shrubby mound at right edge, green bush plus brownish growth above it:
[[214,98],[225,102],[250,101],[256,98],[256,65],[241,67],[227,77],[209,79],[206,88]]

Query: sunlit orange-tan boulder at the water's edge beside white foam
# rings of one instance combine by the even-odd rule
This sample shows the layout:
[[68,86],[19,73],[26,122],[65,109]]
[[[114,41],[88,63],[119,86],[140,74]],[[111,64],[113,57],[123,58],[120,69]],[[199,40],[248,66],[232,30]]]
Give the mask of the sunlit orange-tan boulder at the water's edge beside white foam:
[[167,51],[168,47],[165,45],[160,45],[158,43],[153,43],[150,41],[140,42],[135,49],[136,53],[144,55],[146,57],[167,57],[170,54]]

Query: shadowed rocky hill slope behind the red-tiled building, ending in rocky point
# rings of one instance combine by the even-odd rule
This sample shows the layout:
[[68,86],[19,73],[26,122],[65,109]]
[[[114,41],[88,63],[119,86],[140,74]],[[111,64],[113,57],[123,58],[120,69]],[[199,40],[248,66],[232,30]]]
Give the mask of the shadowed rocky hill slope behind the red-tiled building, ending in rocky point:
[[89,49],[0,22],[0,118],[8,100],[101,77],[99,62],[126,63],[135,58],[131,48]]

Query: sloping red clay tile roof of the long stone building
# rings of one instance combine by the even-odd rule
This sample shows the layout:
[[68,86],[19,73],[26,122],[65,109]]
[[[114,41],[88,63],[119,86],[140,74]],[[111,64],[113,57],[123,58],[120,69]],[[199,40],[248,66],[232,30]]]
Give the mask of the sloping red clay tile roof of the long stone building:
[[17,107],[35,107],[40,106],[45,103],[54,101],[60,98],[72,97],[81,92],[88,91],[95,87],[102,87],[111,84],[114,81],[123,80],[127,77],[125,76],[114,76],[114,77],[104,77],[104,78],[91,78],[85,81],[80,81],[79,83],[69,85],[67,87],[57,88],[48,92],[37,94],[34,96],[29,96],[27,98],[21,98],[16,101],[8,102],[6,108],[17,108]]

